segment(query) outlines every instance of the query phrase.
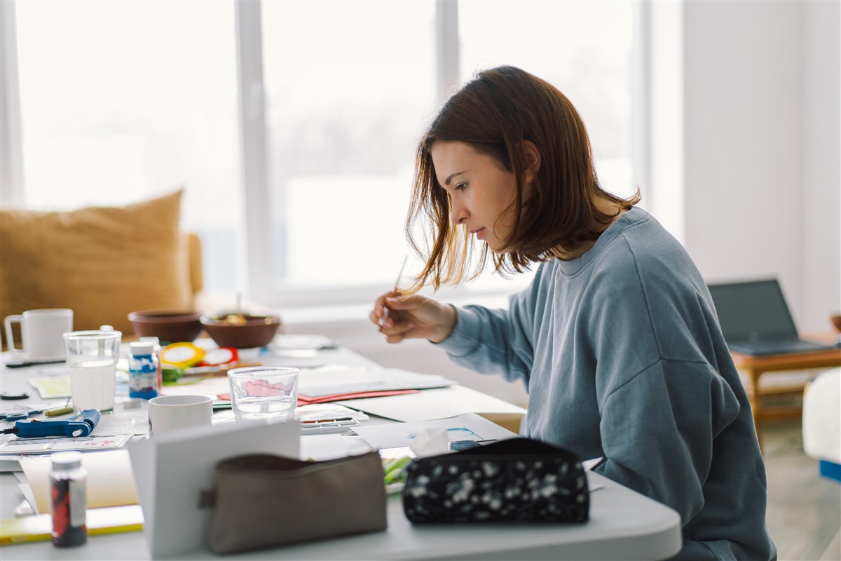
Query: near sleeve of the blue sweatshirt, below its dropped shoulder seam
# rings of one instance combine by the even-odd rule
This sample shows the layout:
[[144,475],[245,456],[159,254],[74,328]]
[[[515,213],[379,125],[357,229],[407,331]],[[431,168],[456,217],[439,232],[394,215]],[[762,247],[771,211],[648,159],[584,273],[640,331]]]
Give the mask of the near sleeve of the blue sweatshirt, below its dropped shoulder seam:
[[740,409],[730,386],[707,363],[661,359],[600,408],[606,462],[596,471],[670,506],[683,525],[692,520],[704,506],[715,439]]

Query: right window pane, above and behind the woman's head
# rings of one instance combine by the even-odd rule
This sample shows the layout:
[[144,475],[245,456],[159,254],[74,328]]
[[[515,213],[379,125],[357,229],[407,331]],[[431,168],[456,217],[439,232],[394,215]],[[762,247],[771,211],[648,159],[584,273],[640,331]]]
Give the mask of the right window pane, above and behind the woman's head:
[[505,64],[558,87],[584,119],[604,188],[622,197],[636,192],[631,3],[463,2],[458,34],[465,76]]

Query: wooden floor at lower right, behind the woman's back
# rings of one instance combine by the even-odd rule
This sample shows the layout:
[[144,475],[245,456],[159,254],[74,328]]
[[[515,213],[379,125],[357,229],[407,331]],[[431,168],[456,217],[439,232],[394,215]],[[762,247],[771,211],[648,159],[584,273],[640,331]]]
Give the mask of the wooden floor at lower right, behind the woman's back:
[[841,560],[841,484],[803,453],[801,422],[766,422],[768,530],[781,561]]

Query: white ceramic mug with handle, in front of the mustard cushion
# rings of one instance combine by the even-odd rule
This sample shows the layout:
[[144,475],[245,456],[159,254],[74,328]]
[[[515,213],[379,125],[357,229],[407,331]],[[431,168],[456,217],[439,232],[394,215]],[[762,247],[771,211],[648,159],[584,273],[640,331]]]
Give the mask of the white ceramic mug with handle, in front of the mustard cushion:
[[[50,308],[7,315],[6,342],[13,357],[27,360],[61,360],[65,357],[62,334],[73,331],[73,310]],[[12,325],[20,324],[20,348],[15,347]]]

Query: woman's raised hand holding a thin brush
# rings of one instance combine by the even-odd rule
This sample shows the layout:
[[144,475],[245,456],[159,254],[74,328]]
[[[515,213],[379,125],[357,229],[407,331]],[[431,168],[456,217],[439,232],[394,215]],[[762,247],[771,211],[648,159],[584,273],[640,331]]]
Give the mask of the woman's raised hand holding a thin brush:
[[[389,310],[388,319],[380,325],[386,308]],[[420,294],[383,294],[374,303],[368,317],[373,324],[380,325],[379,331],[389,343],[399,343],[404,339],[429,339],[440,343],[450,336],[456,326],[456,310],[452,306],[439,304]]]

